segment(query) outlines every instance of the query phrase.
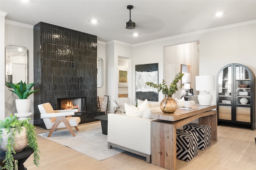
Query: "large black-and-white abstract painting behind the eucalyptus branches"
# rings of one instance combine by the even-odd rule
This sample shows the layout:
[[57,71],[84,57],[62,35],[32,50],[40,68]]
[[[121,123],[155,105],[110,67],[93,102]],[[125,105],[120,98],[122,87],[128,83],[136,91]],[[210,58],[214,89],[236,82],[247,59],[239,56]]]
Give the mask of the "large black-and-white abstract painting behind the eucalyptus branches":
[[158,63],[135,65],[136,99],[158,102],[158,89],[146,82],[158,84]]

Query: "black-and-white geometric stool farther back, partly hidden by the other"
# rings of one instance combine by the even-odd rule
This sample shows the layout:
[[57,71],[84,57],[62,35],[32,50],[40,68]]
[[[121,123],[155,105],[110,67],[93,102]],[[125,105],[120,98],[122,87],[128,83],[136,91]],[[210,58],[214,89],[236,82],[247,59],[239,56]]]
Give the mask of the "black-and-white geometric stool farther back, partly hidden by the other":
[[198,149],[204,150],[211,145],[211,127],[209,125],[190,123],[184,125],[183,129],[198,133]]

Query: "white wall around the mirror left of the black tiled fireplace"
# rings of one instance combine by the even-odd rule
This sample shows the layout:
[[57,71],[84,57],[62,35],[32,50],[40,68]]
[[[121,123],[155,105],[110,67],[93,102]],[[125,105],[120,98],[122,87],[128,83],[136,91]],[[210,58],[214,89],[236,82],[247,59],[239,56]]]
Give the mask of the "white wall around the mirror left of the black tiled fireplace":
[[[28,49],[28,82],[34,82],[34,43],[33,43],[33,27],[31,25],[16,23],[13,21],[6,20],[5,24],[5,47],[7,45],[16,45],[26,47]],[[5,65],[5,64],[4,64]],[[4,66],[1,64],[1,67]],[[4,80],[5,81],[5,80]],[[2,82],[1,82],[2,83]],[[10,113],[14,115],[17,113],[15,106],[15,99],[18,98],[16,94],[10,92],[5,86],[5,117],[9,116]],[[34,94],[29,96],[31,103],[29,112],[34,111]],[[33,115],[31,122],[34,122]]]

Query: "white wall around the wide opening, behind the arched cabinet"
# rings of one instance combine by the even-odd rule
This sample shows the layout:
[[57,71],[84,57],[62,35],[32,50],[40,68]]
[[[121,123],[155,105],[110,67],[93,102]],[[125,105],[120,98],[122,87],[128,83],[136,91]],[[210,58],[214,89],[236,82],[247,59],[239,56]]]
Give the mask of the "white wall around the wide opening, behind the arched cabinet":
[[[240,63],[248,66],[256,74],[256,20],[195,33],[167,37],[161,40],[136,44],[133,47],[133,79],[135,65],[159,63],[158,80],[163,79],[163,47],[200,41],[199,75],[217,76],[226,64]],[[177,68],[179,66],[175,66]],[[256,83],[256,82],[254,82]],[[254,89],[254,95],[256,95]],[[216,104],[216,90],[210,92],[212,104]],[[133,84],[135,98],[135,84]],[[162,97],[159,95],[159,98]],[[256,101],[254,103],[256,105]]]

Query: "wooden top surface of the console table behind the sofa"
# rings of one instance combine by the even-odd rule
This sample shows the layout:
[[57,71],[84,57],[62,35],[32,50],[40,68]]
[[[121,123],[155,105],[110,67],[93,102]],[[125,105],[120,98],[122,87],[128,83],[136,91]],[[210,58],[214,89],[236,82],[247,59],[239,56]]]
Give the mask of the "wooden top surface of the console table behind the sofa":
[[166,121],[177,121],[180,119],[184,119],[184,118],[197,115],[200,113],[204,113],[206,111],[210,111],[212,109],[217,108],[217,105],[211,105],[211,106],[202,106],[200,104],[196,104],[196,105],[198,106],[198,109],[184,110],[184,109],[178,108],[174,113],[158,112],[158,113],[152,113],[152,115],[155,119],[166,120]]

